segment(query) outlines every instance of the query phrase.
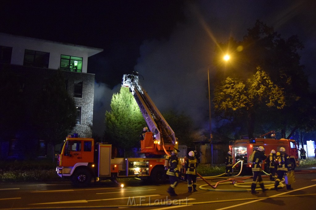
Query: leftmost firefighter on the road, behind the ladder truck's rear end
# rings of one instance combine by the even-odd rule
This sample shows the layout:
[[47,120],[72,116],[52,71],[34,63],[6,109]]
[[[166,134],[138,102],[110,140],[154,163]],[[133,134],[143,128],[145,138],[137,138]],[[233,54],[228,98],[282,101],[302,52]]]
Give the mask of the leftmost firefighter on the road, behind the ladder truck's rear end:
[[171,156],[169,157],[169,167],[167,170],[167,175],[170,180],[170,187],[168,188],[167,192],[170,196],[177,196],[174,189],[179,183],[180,179],[180,172],[178,169],[178,152],[177,150],[173,150],[171,152]]

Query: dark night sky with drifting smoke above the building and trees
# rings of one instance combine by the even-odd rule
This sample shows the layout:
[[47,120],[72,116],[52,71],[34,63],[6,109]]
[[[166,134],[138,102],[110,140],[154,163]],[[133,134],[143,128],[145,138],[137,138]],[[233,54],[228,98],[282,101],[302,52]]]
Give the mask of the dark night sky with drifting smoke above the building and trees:
[[[257,19],[287,39],[298,35],[301,64],[316,89],[316,1],[1,1],[0,32],[102,48],[95,74],[94,133],[123,74],[138,71],[161,112],[190,115],[208,129],[207,67],[218,42],[241,41]],[[212,71],[211,71],[212,76]],[[212,122],[216,127],[216,122]]]

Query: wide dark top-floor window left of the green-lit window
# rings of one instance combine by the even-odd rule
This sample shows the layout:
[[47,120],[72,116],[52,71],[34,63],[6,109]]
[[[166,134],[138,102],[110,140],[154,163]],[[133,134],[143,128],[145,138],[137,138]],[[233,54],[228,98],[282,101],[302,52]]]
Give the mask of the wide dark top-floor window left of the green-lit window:
[[25,50],[23,65],[34,66],[40,68],[48,68],[49,63],[49,53]]

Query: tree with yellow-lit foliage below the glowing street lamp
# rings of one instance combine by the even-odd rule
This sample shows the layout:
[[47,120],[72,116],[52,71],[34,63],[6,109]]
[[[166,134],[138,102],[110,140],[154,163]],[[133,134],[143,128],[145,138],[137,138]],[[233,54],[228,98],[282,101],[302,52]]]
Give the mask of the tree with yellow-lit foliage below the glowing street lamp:
[[246,84],[241,80],[227,77],[222,85],[216,87],[213,103],[217,115],[220,116],[222,113],[223,118],[234,120],[244,117],[249,138],[253,138],[256,109],[259,106],[264,104],[277,109],[285,106],[283,90],[259,67]]

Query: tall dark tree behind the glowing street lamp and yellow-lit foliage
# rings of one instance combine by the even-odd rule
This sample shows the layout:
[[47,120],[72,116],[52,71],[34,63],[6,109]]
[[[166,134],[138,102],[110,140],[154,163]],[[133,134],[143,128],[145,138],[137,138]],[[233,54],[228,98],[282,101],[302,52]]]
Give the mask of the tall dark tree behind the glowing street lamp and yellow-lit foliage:
[[[259,20],[253,28],[248,29],[242,41],[230,38],[227,43],[220,43],[216,48],[217,81],[231,77],[245,82],[260,66],[270,75],[271,82],[283,90],[286,104],[283,109],[256,107],[262,113],[258,122],[270,122],[265,128],[280,128],[283,138],[286,138],[286,130],[293,133],[297,128],[306,127],[306,119],[309,118],[306,115],[306,111],[311,108],[307,103],[310,97],[309,85],[298,54],[302,48],[303,44],[297,36],[284,39],[272,27]],[[232,58],[225,65],[220,62],[223,50],[230,52]]]

